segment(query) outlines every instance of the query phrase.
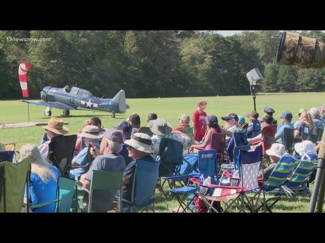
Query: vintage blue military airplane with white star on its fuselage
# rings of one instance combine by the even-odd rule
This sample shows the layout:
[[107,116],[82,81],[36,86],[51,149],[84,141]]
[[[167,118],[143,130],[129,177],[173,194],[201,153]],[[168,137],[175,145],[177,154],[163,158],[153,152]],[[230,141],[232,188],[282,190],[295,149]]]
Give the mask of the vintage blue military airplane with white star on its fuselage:
[[130,108],[125,103],[125,92],[120,90],[113,99],[101,99],[94,97],[89,91],[77,87],[69,86],[64,88],[45,87],[41,91],[41,99],[36,100],[20,100],[34,105],[46,106],[44,114],[51,116],[51,108],[63,110],[63,115],[69,115],[70,110],[90,110],[90,111],[106,111],[112,113],[115,117],[116,113],[125,113]]

